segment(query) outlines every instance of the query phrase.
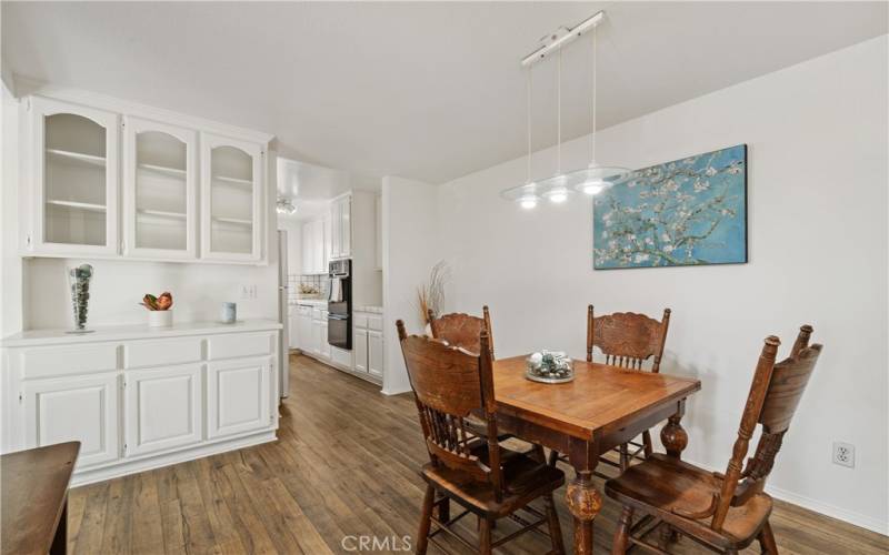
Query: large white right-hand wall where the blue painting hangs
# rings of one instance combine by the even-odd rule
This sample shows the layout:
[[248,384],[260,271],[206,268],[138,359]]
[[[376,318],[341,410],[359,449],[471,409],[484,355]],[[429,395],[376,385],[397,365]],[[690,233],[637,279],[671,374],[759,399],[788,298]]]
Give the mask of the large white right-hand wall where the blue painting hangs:
[[[811,323],[825,351],[771,491],[887,533],[887,62],[883,36],[600,133],[599,160],[629,168],[747,143],[748,264],[593,271],[589,199],[525,211],[498,198],[523,182],[523,159],[442,185],[449,309],[490,305],[500,356],[582,356],[587,303],[672,307],[662,372],[701,380],[686,455],[715,470],[728,462],[762,339],[778,334],[785,354]],[[588,144],[566,144],[563,167],[587,164]],[[537,176],[553,160],[539,153]],[[855,470],[831,464],[833,441],[856,445]]]

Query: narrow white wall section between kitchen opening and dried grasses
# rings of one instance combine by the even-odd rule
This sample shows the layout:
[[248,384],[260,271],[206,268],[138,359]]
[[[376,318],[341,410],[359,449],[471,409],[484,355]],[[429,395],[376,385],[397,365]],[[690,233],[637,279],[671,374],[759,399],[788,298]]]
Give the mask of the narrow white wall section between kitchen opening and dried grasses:
[[417,287],[429,280],[429,272],[439,260],[437,194],[438,188],[428,183],[396,176],[382,179],[382,392],[388,395],[410,391],[396,321],[403,320],[408,333],[422,333]]

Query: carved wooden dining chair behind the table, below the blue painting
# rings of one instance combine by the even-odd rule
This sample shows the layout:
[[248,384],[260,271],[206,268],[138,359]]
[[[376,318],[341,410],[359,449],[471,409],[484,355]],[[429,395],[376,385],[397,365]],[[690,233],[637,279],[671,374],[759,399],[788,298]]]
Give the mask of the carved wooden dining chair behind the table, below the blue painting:
[[[667,331],[670,327],[670,309],[665,309],[660,322],[633,312],[595,316],[590,304],[587,306],[587,362],[592,362],[593,347],[599,347],[605,355],[602,361],[605,364],[642,371],[647,361],[651,359],[650,371],[658,373],[663,356],[663,345],[667,342]],[[615,451],[618,453],[619,462],[616,463],[606,456],[599,458],[599,462],[617,466],[623,472],[633,460],[652,453],[651,433],[645,431],[641,443],[630,441],[615,447]],[[557,452],[550,453],[550,464],[555,465],[556,461],[562,460],[565,457]],[[611,477],[600,472],[595,474],[605,478]]]

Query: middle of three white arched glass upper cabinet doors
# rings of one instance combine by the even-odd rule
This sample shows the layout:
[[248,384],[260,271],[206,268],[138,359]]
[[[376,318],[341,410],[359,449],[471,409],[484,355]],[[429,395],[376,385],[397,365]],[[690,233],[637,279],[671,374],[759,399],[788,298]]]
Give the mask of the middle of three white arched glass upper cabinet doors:
[[123,254],[196,259],[197,132],[133,117],[123,129]]

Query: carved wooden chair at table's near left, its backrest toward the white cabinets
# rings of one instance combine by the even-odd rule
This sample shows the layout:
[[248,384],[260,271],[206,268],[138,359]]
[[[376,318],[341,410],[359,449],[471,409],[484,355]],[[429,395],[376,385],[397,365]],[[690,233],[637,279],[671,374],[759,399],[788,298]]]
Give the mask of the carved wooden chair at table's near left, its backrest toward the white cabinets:
[[[475,548],[452,529],[467,514],[479,517],[479,553],[490,554],[497,547],[529,531],[542,533],[547,525],[551,553],[565,552],[559,517],[552,492],[565,484],[565,474],[546,464],[542,448],[527,455],[502,447],[497,441],[497,412],[493,394],[492,357],[487,330],[479,333],[479,353],[427,336],[408,335],[404,324],[397,322],[404,364],[413,389],[429,463],[420,475],[427,483],[423,497],[417,553],[424,554],[429,539],[447,533]],[[488,426],[487,437],[467,432],[466,418],[481,411]],[[453,518],[432,514],[436,494],[443,494],[465,511]],[[542,497],[543,512],[529,504]],[[517,512],[529,517],[516,515]],[[500,539],[491,537],[496,519],[512,517],[522,527]],[[437,529],[432,531],[432,524]]]

